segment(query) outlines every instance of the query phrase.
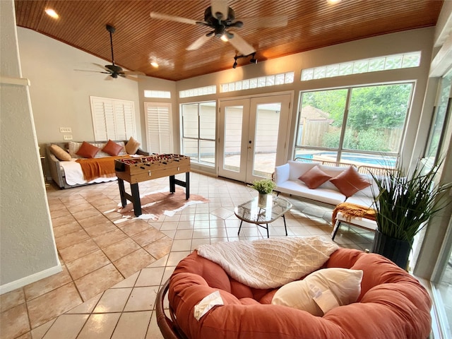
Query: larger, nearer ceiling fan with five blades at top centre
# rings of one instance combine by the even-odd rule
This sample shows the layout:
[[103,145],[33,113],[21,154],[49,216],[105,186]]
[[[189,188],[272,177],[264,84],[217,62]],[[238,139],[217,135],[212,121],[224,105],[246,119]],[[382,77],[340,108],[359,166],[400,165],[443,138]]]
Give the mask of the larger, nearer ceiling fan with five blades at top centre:
[[[270,27],[284,27],[287,25],[287,17],[270,17],[270,18],[258,18],[254,20],[254,27],[252,25],[245,24],[246,19],[236,20],[235,13],[232,8],[227,6],[225,0],[212,0],[210,6],[204,11],[204,20],[192,20],[188,18],[182,18],[180,16],[169,16],[163,13],[150,13],[151,18],[160,20],[177,21],[179,23],[189,23],[191,25],[204,25],[212,30],[206,35],[201,35],[197,40],[189,45],[186,49],[189,51],[198,49],[205,44],[210,37],[221,37],[222,40],[230,42],[232,46],[242,55],[250,55],[256,52],[256,49],[240,37],[237,32],[231,32],[230,28],[270,28]],[[250,19],[249,19],[250,20]]]

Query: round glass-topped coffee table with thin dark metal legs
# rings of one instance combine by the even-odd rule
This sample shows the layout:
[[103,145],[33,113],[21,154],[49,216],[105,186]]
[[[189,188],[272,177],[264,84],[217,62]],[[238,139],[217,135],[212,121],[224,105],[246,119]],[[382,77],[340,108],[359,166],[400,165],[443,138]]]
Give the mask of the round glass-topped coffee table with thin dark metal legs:
[[246,203],[242,203],[242,205],[234,208],[235,215],[241,220],[239,232],[237,234],[240,234],[242,223],[246,221],[265,228],[267,230],[267,237],[269,238],[268,224],[282,216],[284,220],[285,235],[287,235],[284,215],[290,208],[292,208],[292,203],[280,196],[268,194],[265,205],[258,204],[258,197],[256,196],[256,198],[246,201]]

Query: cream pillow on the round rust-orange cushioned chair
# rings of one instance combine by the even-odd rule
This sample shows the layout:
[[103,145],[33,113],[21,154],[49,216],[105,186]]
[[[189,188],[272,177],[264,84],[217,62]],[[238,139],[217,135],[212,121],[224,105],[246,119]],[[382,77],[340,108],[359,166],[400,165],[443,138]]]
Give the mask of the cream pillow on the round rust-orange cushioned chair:
[[323,316],[335,307],[356,302],[361,280],[362,270],[323,268],[280,287],[271,303]]

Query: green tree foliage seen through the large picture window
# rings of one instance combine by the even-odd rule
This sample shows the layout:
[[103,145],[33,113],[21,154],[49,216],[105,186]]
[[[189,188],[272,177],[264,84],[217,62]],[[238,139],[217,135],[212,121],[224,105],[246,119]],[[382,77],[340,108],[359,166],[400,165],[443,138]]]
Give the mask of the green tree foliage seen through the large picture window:
[[[411,83],[352,88],[343,148],[391,151],[385,131],[403,128],[411,90]],[[337,148],[347,92],[340,89],[303,93],[302,107],[321,109],[331,119],[330,129],[323,136],[323,147]]]

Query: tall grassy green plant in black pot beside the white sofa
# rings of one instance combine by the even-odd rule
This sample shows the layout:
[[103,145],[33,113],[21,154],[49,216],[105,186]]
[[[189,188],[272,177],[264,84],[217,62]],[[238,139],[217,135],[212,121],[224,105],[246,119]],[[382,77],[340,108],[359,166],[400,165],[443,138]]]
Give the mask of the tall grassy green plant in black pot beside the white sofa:
[[444,195],[450,184],[434,182],[440,166],[441,162],[434,162],[427,168],[418,162],[408,175],[403,169],[388,169],[383,176],[371,174],[378,187],[372,189],[377,224],[372,252],[407,268],[415,235],[450,203]]

